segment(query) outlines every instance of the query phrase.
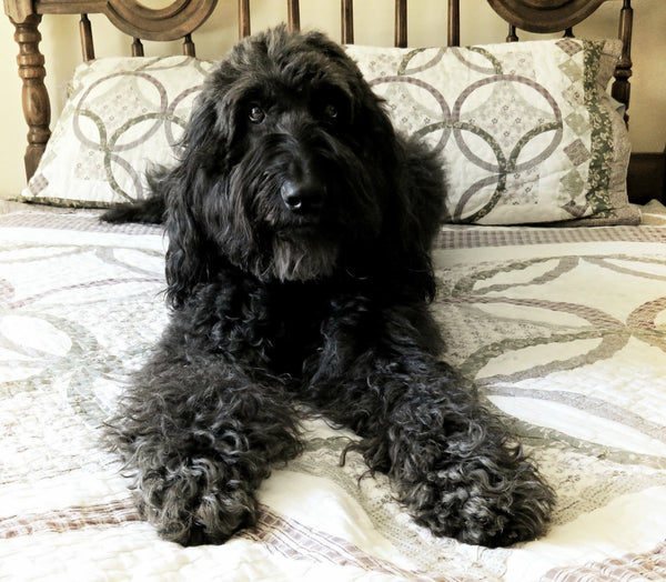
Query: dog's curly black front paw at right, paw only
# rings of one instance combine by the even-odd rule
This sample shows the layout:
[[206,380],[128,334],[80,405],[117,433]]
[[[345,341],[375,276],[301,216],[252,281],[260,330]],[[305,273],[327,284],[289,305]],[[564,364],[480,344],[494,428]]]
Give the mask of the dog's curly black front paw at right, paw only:
[[458,462],[406,484],[400,498],[435,535],[488,548],[534,540],[546,532],[555,496],[534,466],[495,459]]

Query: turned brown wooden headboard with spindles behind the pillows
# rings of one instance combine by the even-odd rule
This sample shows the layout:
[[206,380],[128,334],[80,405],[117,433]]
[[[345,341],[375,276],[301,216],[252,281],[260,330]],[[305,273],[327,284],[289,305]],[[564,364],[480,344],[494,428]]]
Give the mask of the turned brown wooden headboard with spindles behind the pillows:
[[[231,1],[231,0],[223,0]],[[239,36],[251,32],[250,0],[238,1]],[[290,28],[299,29],[299,0],[284,0],[286,21]],[[424,0],[413,0],[423,2]],[[573,36],[574,27],[586,19],[607,0],[487,0],[490,6],[507,22],[506,40],[517,41],[517,30],[529,32],[563,32]],[[83,60],[94,59],[94,43],[88,14],[102,13],[131,40],[131,53],[143,54],[142,40],[168,41],[182,39],[184,54],[194,56],[194,31],[211,16],[216,0],[174,0],[162,9],[150,9],[137,0],[4,0],[4,11],[16,27],[14,39],[19,44],[19,76],[23,82],[23,113],[29,127],[26,151],[26,173],[30,178],[44,151],[50,137],[51,109],[43,79],[44,57],[40,52],[39,24],[43,14],[81,14],[79,23]],[[407,0],[395,0],[394,43],[405,47],[407,39]],[[432,10],[447,10],[448,26],[442,31],[447,46],[461,42],[461,0],[431,0]],[[341,38],[343,43],[354,42],[353,0],[340,0]],[[615,70],[613,97],[625,108],[629,106],[632,76],[632,26],[630,0],[623,0],[618,14],[619,38],[624,50]],[[625,118],[628,120],[628,117]],[[636,198],[636,197],[635,197]],[[637,200],[640,201],[640,200]]]

